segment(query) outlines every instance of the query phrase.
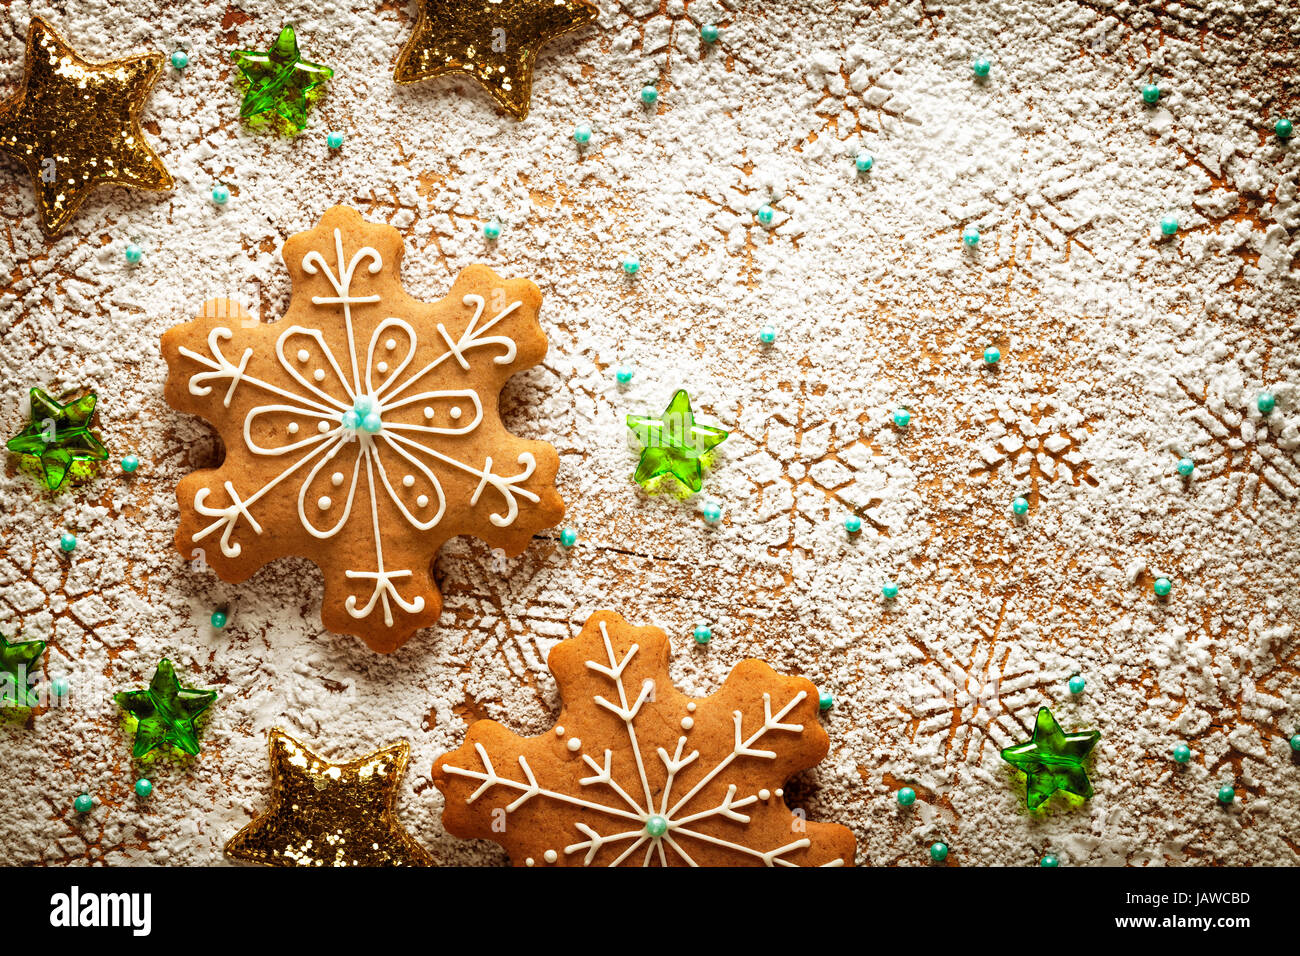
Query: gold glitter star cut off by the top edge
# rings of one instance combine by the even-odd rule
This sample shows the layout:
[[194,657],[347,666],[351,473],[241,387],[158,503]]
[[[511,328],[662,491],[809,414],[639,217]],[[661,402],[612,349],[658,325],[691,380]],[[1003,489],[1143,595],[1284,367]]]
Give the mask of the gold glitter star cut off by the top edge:
[[420,0],[415,33],[398,56],[399,83],[464,73],[523,120],[537,51],[599,10],[589,0]]

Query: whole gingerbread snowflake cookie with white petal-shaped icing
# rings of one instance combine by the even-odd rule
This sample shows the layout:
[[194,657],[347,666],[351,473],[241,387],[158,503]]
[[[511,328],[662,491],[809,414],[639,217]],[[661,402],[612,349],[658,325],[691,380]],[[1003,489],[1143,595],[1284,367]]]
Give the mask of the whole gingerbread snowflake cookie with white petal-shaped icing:
[[228,581],[309,558],[325,627],[390,652],[438,619],[430,564],[447,538],[517,554],[564,512],[555,449],[498,414],[506,380],[546,354],[541,293],[471,265],[446,298],[419,302],[400,285],[398,232],[346,207],[282,256],[283,319],[214,299],[162,336],[168,402],[226,447],[181,481],[176,546]]

